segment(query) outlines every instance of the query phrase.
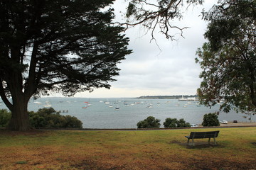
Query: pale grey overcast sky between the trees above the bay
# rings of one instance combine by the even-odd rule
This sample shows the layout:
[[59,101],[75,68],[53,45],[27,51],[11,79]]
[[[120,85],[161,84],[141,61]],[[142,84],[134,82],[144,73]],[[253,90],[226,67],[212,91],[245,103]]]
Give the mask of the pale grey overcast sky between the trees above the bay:
[[[95,89],[92,93],[84,92],[75,97],[114,98],[165,95],[194,95],[200,86],[198,75],[201,69],[195,63],[196,50],[206,40],[203,38],[207,23],[201,19],[203,8],[209,9],[215,1],[206,0],[203,6],[190,6],[183,14],[178,26],[190,28],[183,31],[184,38],[177,41],[167,40],[161,33],[155,33],[157,44],[150,42],[151,35],[137,26],[125,32],[129,37],[127,55],[118,67],[121,69],[117,81],[108,89]],[[117,0],[114,10],[117,20],[122,20],[122,12],[127,6],[123,0]],[[122,11],[122,12],[120,12]],[[124,21],[124,20],[123,20]],[[160,50],[160,49],[161,50]]]

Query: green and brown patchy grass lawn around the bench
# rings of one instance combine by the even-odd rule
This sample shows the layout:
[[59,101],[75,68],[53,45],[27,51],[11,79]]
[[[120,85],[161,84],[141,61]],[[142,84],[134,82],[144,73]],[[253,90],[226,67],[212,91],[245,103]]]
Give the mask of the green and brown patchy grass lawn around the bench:
[[[186,145],[191,131],[211,130],[218,145]],[[256,169],[256,128],[0,130],[0,169]]]

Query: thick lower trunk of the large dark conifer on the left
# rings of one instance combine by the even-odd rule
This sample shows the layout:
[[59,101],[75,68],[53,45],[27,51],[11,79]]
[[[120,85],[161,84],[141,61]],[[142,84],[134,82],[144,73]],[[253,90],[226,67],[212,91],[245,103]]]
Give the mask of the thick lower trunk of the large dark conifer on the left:
[[[20,100],[19,100],[20,99]],[[17,98],[14,100],[14,105],[11,109],[11,120],[7,129],[26,131],[31,129],[28,119],[28,102]]]

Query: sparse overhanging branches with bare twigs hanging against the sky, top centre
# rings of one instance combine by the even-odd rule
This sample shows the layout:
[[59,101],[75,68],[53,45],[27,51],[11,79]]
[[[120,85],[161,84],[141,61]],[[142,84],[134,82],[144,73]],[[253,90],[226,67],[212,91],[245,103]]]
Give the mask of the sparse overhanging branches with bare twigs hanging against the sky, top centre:
[[183,29],[173,25],[171,21],[181,19],[182,8],[190,4],[202,4],[202,0],[131,0],[127,6],[127,18],[134,19],[132,22],[124,23],[126,26],[144,26],[151,30],[154,38],[154,31],[159,28],[166,38],[173,40],[176,33],[170,33],[171,29],[178,29],[182,36]]

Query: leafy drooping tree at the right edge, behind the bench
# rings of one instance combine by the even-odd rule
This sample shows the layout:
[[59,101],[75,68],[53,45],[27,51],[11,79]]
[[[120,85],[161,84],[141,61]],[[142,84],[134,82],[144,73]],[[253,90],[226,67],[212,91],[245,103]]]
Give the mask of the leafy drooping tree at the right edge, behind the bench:
[[208,39],[197,51],[203,79],[198,95],[206,106],[223,101],[228,112],[256,111],[256,1],[220,1],[204,13]]

